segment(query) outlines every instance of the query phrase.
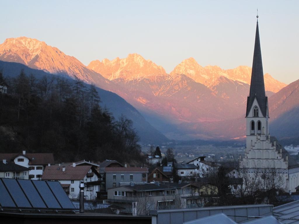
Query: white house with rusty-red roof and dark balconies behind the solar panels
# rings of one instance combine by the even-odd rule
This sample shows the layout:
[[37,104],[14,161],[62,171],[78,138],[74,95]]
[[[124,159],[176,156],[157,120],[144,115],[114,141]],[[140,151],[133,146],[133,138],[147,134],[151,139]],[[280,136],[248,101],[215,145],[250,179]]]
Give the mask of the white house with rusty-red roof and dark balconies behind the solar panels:
[[92,165],[48,165],[42,180],[56,180],[62,185],[69,198],[77,198],[80,192],[80,181],[85,183],[85,200],[94,200],[100,191],[99,173]]

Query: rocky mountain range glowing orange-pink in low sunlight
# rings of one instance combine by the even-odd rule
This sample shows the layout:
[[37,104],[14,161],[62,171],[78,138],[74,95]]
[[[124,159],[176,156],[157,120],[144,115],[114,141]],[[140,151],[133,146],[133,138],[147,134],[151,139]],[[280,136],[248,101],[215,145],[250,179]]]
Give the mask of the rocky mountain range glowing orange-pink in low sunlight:
[[[6,39],[0,45],[0,60],[76,77],[114,92],[170,139],[231,139],[242,138],[245,133],[245,119],[240,118],[245,116],[250,88],[251,68],[247,66],[223,70],[202,67],[188,58],[167,74],[162,66],[136,53],[124,59],[95,60],[85,66],[56,47],[26,37]],[[275,127],[280,116],[295,110],[298,102],[288,91],[296,85],[286,86],[268,73],[264,80],[270,116],[273,112],[270,121]]]

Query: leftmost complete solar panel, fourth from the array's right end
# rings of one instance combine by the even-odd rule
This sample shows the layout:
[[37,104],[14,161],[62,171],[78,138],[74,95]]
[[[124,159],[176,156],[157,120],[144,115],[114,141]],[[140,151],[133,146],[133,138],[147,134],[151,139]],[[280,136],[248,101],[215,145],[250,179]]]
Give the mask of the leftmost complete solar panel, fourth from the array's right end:
[[32,208],[16,179],[4,178],[2,181],[19,208]]

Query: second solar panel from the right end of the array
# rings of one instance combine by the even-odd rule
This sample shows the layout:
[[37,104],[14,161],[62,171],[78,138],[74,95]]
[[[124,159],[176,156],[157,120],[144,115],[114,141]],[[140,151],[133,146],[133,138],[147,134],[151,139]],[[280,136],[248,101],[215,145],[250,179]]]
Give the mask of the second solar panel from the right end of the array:
[[45,181],[32,180],[48,208],[61,208]]

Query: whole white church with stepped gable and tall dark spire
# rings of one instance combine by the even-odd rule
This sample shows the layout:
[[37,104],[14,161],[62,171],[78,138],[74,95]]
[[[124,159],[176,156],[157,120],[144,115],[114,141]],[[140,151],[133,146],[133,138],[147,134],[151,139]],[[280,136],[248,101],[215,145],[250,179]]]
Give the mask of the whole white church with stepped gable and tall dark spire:
[[[258,16],[257,16],[258,18]],[[299,185],[299,164],[289,156],[274,136],[270,136],[268,97],[265,92],[260,35],[257,21],[250,92],[246,108],[246,149],[242,162],[248,173],[275,168],[283,178],[283,188],[295,192]]]

